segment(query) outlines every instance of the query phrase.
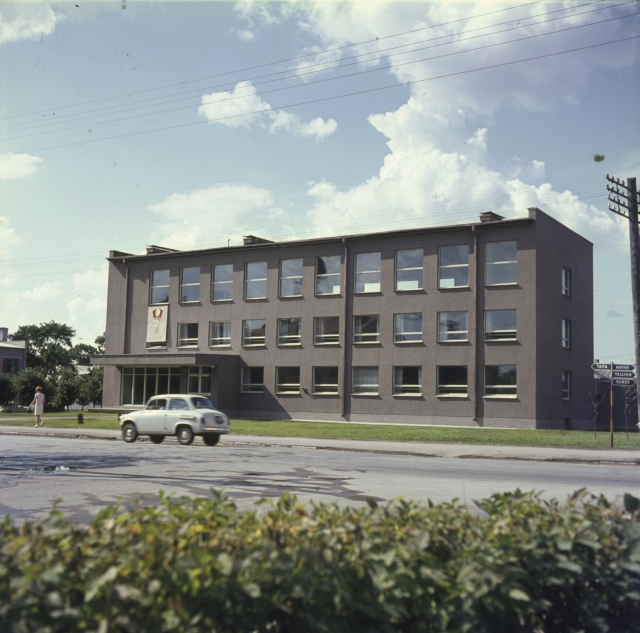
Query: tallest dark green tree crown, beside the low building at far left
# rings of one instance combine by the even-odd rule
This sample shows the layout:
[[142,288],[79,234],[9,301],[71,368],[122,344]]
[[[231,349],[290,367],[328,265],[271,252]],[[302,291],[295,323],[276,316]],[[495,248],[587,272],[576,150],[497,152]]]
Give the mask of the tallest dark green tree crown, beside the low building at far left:
[[40,369],[44,375],[52,376],[60,368],[73,364],[71,349],[75,335],[72,327],[50,321],[40,325],[21,325],[13,338],[28,341],[27,367]]

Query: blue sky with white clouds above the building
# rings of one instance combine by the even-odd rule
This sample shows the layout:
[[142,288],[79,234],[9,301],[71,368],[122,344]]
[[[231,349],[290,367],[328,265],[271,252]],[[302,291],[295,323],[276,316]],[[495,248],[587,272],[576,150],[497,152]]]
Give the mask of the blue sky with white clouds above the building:
[[95,338],[109,249],[538,206],[594,242],[596,357],[632,362],[605,174],[640,176],[638,40],[616,42],[639,35],[638,11],[0,1],[0,325]]

